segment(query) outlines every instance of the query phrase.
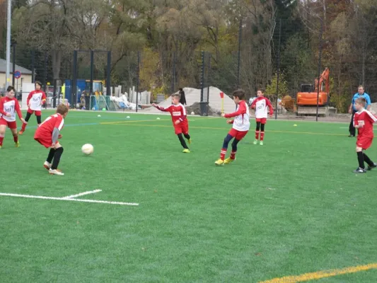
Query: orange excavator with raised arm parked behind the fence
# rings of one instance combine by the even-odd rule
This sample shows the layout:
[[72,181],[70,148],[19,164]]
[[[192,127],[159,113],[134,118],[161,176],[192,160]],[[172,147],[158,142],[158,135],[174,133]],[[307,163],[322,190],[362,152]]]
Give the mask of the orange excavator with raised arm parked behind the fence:
[[[330,95],[330,70],[328,68],[320,74],[320,81],[315,79],[315,85],[302,84],[301,92],[297,93],[296,105],[297,114],[315,114],[317,110],[317,96],[318,96],[318,114],[325,114]],[[319,88],[319,94],[318,94]]]

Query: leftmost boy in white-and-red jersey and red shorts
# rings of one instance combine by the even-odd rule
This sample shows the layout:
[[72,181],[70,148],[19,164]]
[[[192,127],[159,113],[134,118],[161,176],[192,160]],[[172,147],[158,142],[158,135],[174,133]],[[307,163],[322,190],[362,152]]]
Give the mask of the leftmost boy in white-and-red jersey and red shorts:
[[0,149],[3,146],[6,127],[11,129],[16,147],[20,146],[17,134],[16,112],[22,122],[25,123],[25,120],[22,117],[18,100],[14,97],[14,91],[13,86],[8,86],[6,96],[0,98]]

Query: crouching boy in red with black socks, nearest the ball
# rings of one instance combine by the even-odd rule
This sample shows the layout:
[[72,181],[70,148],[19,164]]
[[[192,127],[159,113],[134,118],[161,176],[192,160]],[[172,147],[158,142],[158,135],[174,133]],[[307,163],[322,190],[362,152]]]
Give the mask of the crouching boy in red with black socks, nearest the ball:
[[37,128],[34,135],[34,139],[42,144],[42,146],[45,146],[47,149],[50,148],[47,160],[43,163],[43,166],[52,175],[64,175],[57,167],[59,166],[60,158],[64,151],[58,139],[62,137],[60,131],[64,126],[64,118],[66,115],[68,115],[68,107],[64,104],[59,105],[56,114],[47,117],[47,119],[40,124],[40,127]]

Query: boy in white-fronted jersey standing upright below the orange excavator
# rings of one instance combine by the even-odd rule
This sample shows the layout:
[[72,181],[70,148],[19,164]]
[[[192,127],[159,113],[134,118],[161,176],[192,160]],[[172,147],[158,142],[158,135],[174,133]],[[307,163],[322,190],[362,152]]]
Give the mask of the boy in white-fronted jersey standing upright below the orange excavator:
[[260,145],[263,145],[263,140],[265,139],[265,125],[267,122],[267,107],[269,108],[269,117],[272,117],[274,113],[274,108],[268,98],[264,96],[265,91],[258,89],[257,98],[253,100],[251,108],[255,108],[255,120],[257,122],[257,128],[255,129],[255,141],[254,144],[258,143],[260,134]]

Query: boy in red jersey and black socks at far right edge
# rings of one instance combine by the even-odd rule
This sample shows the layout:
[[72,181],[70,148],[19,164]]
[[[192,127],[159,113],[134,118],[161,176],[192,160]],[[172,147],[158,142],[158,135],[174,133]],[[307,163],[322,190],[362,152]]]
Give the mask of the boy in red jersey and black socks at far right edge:
[[359,167],[354,173],[366,173],[364,161],[368,164],[368,170],[376,168],[377,165],[364,154],[364,150],[369,149],[373,141],[373,123],[377,122],[377,117],[365,109],[365,98],[357,98],[355,103],[356,113],[354,115],[354,127],[358,129],[356,140],[356,154]]

